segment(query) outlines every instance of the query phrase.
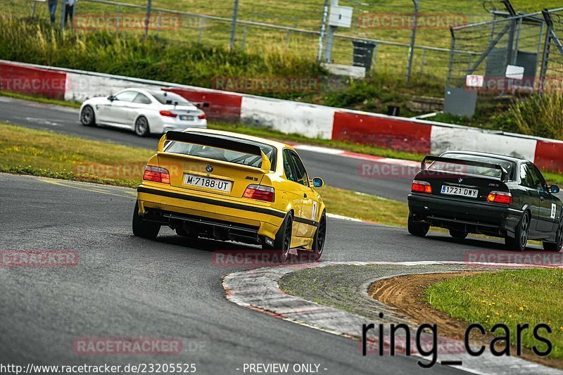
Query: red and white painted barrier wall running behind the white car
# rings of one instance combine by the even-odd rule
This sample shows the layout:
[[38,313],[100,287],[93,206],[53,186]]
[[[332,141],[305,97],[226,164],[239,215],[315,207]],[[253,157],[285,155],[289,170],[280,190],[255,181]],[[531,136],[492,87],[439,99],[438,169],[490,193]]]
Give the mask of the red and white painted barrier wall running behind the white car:
[[115,94],[127,87],[161,87],[190,101],[209,103],[205,112],[210,120],[243,122],[286,134],[352,141],[399,151],[439,154],[457,149],[501,153],[533,160],[541,168],[563,170],[563,142],[552,139],[169,82],[0,61],[0,89],[4,91],[80,102],[92,96]]

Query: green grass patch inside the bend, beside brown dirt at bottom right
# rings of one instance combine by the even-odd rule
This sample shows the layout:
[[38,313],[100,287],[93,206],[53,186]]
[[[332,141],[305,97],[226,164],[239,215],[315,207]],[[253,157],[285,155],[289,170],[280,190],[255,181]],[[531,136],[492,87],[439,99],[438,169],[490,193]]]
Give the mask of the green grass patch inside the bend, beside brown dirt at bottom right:
[[[533,327],[548,324],[552,333],[540,331],[552,345],[552,358],[563,358],[563,269],[522,269],[454,277],[426,289],[424,300],[432,307],[467,322],[480,323],[487,331],[495,324],[510,328],[510,341],[516,343],[517,324],[531,327],[522,333],[525,348],[546,345],[533,337]],[[504,336],[505,331],[496,333]]]

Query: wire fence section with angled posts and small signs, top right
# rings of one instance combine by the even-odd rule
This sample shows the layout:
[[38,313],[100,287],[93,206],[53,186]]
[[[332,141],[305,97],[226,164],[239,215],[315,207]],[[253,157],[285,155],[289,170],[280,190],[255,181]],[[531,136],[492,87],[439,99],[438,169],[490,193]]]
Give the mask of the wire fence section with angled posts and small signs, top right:
[[497,94],[561,89],[563,8],[519,14],[506,3],[493,15],[452,28],[446,86]]

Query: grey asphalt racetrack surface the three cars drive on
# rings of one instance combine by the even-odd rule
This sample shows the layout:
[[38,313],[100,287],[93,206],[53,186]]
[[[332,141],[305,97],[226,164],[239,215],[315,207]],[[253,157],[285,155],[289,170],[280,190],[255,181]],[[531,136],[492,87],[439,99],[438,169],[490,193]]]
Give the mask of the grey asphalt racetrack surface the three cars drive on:
[[[89,139],[156,148],[114,129],[82,127],[77,110],[1,98],[0,121]],[[357,160],[302,152],[327,184],[406,200],[410,181],[364,179]],[[346,171],[350,171],[349,174]],[[414,357],[362,357],[358,342],[275,319],[225,298],[213,250],[234,243],[189,241],[163,228],[132,235],[136,192],[111,186],[0,174],[0,250],[75,250],[75,267],[0,267],[0,357],[14,364],[194,363],[196,374],[243,374],[243,364],[320,364],[320,374],[420,374]],[[500,241],[418,239],[406,229],[329,219],[324,261],[463,260]],[[537,249],[537,246],[533,246]],[[248,266],[246,266],[248,268]],[[76,355],[83,337],[180,338],[179,355]],[[460,371],[437,365],[432,374]]]

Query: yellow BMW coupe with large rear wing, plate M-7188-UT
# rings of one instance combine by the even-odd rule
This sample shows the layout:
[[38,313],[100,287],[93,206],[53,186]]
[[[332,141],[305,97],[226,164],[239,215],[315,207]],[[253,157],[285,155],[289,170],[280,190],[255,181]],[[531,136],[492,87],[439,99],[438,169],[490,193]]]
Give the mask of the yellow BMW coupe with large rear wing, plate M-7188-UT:
[[327,234],[322,198],[297,152],[255,136],[210,129],[167,132],[137,188],[133,234],[155,239],[166,225],[181,236],[311,250]]

